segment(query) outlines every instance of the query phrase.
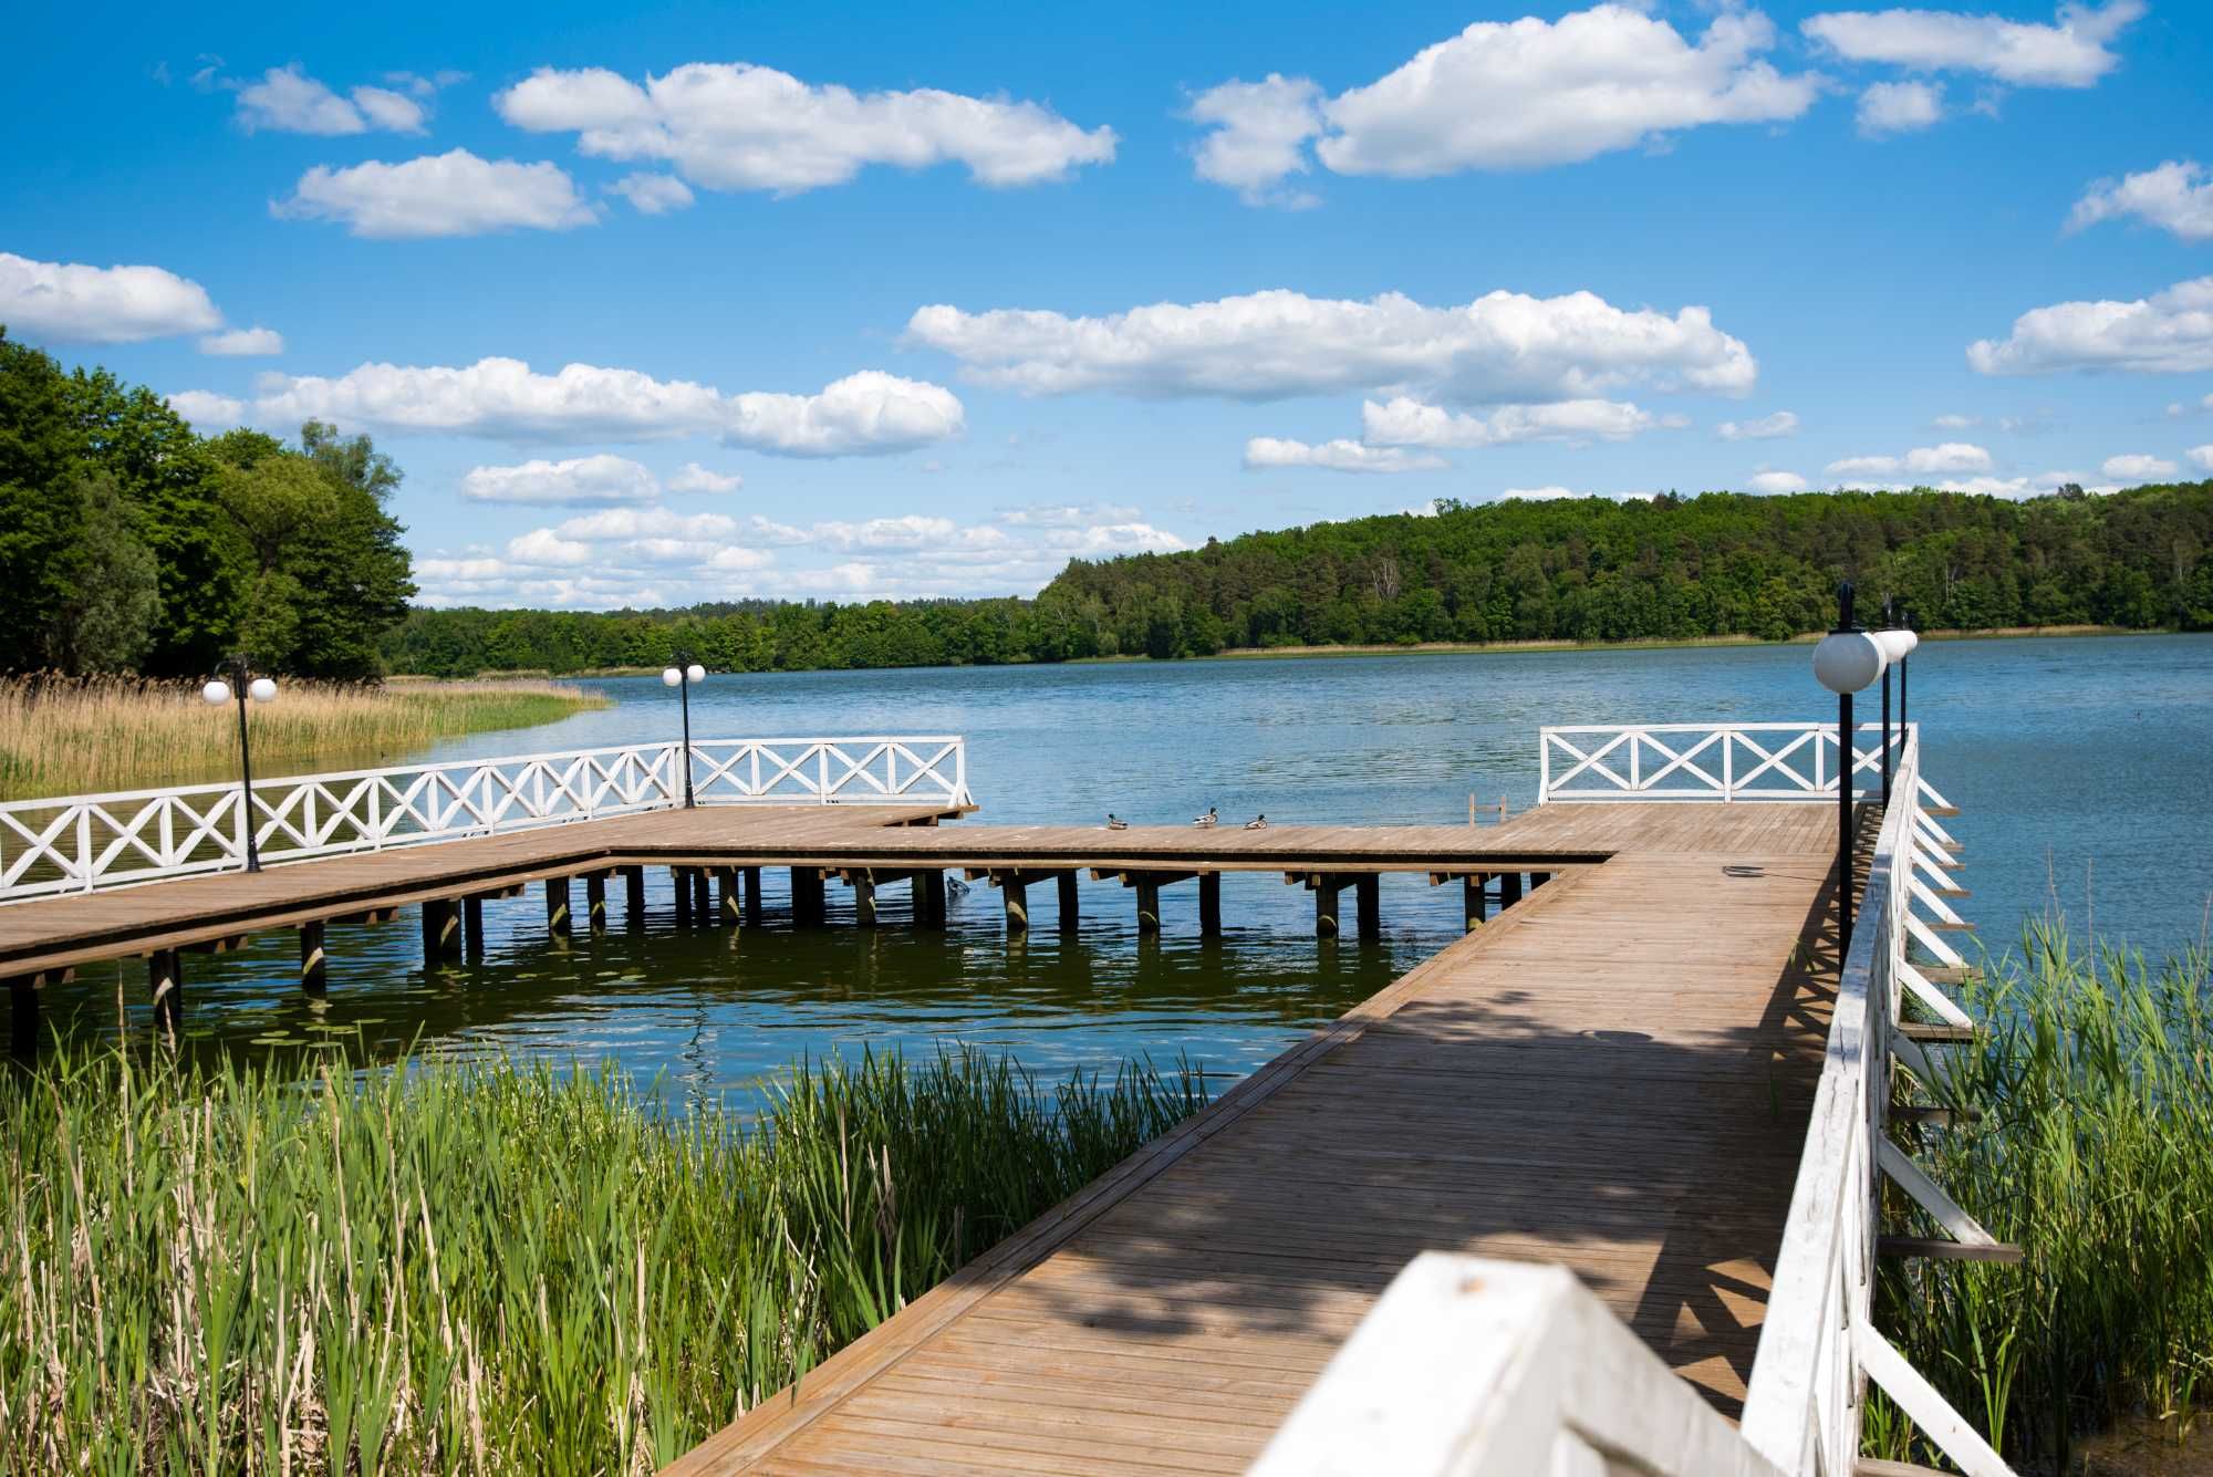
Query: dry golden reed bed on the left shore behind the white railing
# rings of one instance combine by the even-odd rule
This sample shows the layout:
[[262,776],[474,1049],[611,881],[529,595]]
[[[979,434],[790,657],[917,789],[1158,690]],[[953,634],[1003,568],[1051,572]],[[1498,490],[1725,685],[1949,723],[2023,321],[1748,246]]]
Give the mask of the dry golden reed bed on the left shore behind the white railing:
[[[285,681],[274,703],[250,705],[254,772],[376,765],[438,738],[606,705],[598,692],[551,681]],[[197,683],[0,681],[0,800],[188,785],[230,778],[237,765],[237,716],[210,708]]]

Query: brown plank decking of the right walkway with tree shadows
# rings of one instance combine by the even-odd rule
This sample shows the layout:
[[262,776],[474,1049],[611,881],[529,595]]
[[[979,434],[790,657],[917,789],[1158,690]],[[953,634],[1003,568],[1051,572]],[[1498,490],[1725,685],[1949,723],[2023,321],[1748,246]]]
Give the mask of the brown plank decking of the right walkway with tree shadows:
[[1487,831],[1615,856],[671,1470],[1239,1470],[1423,1249],[1565,1263],[1735,1413],[1826,1035],[1832,825],[1819,805],[1556,805]]

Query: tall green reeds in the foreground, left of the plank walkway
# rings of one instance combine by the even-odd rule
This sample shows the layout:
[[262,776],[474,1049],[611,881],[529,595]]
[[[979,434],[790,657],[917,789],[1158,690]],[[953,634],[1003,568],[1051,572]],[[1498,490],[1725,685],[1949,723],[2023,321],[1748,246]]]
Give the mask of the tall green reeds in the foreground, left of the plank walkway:
[[0,1086],[0,1470],[651,1473],[1199,1101],[64,1050]]

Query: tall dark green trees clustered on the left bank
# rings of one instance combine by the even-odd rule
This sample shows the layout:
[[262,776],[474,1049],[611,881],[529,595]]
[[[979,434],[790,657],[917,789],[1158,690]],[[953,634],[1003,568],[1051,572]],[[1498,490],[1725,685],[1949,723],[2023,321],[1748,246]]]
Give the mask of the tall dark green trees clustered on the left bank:
[[365,679],[414,595],[398,469],[308,422],[301,444],[193,429],[150,389],[64,374],[0,329],[0,668]]

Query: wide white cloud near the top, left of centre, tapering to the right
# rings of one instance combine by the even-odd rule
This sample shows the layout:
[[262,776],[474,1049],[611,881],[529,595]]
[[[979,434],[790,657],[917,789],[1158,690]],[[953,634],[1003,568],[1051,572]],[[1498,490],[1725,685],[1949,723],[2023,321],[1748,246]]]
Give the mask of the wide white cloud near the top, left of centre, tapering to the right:
[[854,93],[744,62],[690,62],[644,86],[600,66],[542,66],[491,106],[516,128],[575,133],[586,155],[664,159],[708,190],[812,190],[870,164],[965,164],[978,184],[1027,186],[1115,150],[1113,128],[1078,128],[1036,102]]

